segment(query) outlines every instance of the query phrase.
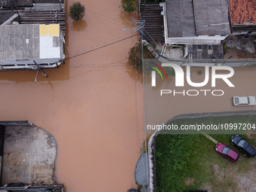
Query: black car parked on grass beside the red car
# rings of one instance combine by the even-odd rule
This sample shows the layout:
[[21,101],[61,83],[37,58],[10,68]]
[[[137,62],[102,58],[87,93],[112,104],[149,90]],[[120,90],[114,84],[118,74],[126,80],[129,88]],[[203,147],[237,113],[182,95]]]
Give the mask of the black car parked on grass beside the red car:
[[235,145],[236,148],[239,148],[239,150],[242,151],[244,156],[247,156],[247,157],[256,156],[256,150],[250,144],[248,144],[248,142],[246,142],[245,139],[242,139],[242,137],[239,135],[232,136],[231,144]]

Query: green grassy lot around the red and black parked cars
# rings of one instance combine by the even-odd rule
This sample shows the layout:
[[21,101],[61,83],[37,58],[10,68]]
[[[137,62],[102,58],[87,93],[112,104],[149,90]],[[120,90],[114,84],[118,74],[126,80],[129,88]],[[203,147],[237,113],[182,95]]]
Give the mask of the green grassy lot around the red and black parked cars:
[[[246,117],[248,118],[244,119],[248,121],[242,121],[243,123],[254,121],[254,117],[251,118],[249,115]],[[233,119],[235,118],[237,117],[233,116]],[[184,123],[187,120],[180,121]],[[194,123],[202,123],[199,120],[195,121]],[[256,147],[254,139],[240,135]],[[211,136],[238,152],[239,160],[232,163],[225,157],[221,157],[215,152],[215,143],[203,135],[160,134],[157,136],[157,191],[184,192],[185,190],[208,190],[209,187],[212,191],[238,190],[237,179],[239,178],[236,178],[236,175],[245,175],[246,172],[256,168],[256,163],[251,161],[251,158],[243,157],[242,153],[230,144],[233,134]]]

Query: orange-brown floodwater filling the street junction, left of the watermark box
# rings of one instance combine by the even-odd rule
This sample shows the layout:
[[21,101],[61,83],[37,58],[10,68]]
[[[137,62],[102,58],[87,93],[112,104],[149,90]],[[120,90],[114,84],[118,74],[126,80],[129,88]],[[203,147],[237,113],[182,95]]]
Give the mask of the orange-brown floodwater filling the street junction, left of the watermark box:
[[145,139],[142,77],[126,66],[138,14],[124,14],[120,0],[81,4],[84,19],[67,20],[65,65],[36,82],[35,71],[0,72],[1,120],[29,120],[53,134],[56,178],[66,191],[126,191],[137,187]]

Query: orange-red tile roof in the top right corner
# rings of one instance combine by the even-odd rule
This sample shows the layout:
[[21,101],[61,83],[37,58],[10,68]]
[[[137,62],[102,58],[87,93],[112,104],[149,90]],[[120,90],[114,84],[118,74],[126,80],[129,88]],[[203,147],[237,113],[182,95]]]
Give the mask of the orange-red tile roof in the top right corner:
[[230,0],[232,26],[239,23],[256,24],[255,0]]

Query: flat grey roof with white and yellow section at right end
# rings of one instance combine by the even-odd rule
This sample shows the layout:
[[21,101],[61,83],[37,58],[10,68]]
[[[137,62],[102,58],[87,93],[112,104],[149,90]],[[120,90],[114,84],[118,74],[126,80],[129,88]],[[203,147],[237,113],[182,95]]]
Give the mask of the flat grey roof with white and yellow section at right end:
[[0,60],[60,58],[59,24],[0,26]]

